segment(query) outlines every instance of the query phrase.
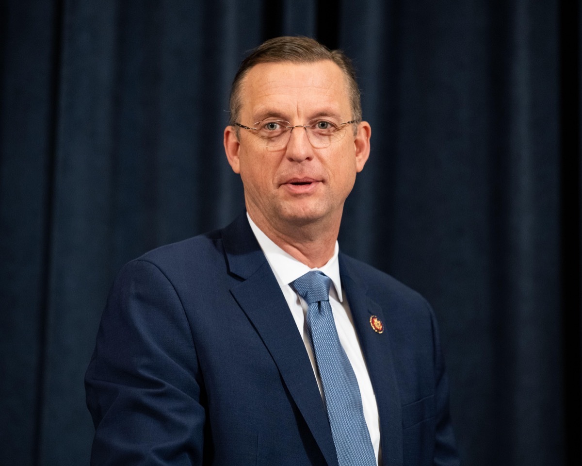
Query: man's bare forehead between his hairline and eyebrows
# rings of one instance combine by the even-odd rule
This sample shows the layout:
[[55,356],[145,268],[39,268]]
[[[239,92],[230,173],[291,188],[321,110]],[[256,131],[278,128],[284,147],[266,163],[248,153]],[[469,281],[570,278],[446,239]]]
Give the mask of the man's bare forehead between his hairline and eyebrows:
[[271,114],[289,119],[351,116],[346,76],[329,60],[258,63],[244,77],[240,97],[241,116],[253,121]]

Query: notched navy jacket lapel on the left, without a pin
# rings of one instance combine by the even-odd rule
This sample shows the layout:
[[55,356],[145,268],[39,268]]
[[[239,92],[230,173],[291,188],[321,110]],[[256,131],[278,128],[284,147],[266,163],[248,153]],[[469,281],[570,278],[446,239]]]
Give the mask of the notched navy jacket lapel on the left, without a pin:
[[262,338],[327,463],[337,466],[327,414],[303,340],[246,216],[225,228],[223,244],[229,273],[242,278],[230,292]]

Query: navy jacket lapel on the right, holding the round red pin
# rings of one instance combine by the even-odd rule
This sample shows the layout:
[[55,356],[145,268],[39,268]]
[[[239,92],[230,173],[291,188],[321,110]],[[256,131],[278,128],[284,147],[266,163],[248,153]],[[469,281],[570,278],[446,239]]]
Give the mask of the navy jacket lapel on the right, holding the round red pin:
[[402,408],[390,339],[388,331],[377,333],[372,329],[370,318],[377,316],[384,324],[387,321],[381,306],[366,294],[367,285],[354,273],[342,253],[339,257],[339,267],[342,285],[350,304],[354,326],[378,405],[382,464],[402,465]]

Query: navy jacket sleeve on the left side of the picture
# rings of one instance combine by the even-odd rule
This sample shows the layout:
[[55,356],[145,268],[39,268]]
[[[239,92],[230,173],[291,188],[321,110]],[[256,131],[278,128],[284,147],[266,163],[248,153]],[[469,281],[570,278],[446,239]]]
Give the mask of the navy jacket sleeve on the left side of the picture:
[[205,409],[182,302],[154,264],[120,271],[85,376],[91,465],[203,464]]

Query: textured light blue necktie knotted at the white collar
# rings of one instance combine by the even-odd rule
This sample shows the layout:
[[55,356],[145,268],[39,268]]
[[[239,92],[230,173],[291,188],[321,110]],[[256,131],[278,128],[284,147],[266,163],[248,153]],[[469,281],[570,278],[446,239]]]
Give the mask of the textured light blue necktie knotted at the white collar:
[[329,304],[331,279],[320,271],[310,271],[292,285],[308,305],[307,327],[324,387],[339,466],[376,466],[356,375],[339,343],[333,321]]

